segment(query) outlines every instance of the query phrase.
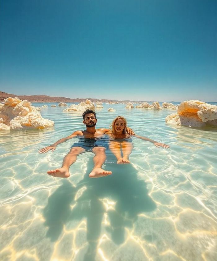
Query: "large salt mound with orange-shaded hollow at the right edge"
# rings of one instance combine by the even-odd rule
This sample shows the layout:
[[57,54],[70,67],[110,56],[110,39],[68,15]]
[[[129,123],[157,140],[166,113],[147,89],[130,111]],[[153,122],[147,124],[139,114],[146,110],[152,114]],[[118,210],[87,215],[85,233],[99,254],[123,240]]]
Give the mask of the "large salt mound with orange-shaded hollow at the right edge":
[[217,106],[198,100],[185,101],[179,104],[177,113],[168,115],[165,121],[180,126],[217,126]]

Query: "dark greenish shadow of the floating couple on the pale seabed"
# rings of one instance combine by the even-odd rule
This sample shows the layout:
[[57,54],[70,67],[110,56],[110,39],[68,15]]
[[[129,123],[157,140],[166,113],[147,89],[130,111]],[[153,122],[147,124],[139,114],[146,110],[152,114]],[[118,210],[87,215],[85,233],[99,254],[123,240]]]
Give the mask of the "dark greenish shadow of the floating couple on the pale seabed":
[[[154,201],[148,196],[146,183],[139,180],[137,170],[131,165],[106,163],[105,169],[111,170],[112,175],[91,179],[88,174],[93,167],[92,159],[87,164],[86,175],[76,187],[68,180],[49,197],[44,209],[45,225],[48,227],[47,236],[56,241],[63,226],[70,220],[87,220],[86,239],[88,249],[83,260],[94,261],[100,238],[104,214],[107,213],[110,224],[106,226],[108,234],[117,245],[124,242],[124,228],[132,227],[138,215],[153,211]],[[78,199],[75,195],[85,187]],[[104,203],[114,202],[112,208]],[[70,205],[75,204],[71,210]]]

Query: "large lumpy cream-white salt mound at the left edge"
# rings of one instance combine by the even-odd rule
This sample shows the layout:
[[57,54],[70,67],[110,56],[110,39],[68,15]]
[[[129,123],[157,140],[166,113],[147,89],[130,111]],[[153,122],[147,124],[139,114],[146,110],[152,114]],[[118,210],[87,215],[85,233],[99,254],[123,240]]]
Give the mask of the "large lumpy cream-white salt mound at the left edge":
[[0,104],[0,130],[42,130],[52,126],[54,121],[42,118],[38,109],[27,100],[9,97]]

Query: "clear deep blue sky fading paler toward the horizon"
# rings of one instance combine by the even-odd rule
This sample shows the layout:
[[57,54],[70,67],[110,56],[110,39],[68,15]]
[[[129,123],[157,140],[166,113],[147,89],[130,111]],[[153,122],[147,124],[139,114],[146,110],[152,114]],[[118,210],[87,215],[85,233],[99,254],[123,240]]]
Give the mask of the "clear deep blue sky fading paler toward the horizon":
[[216,0],[2,0],[0,90],[217,101]]

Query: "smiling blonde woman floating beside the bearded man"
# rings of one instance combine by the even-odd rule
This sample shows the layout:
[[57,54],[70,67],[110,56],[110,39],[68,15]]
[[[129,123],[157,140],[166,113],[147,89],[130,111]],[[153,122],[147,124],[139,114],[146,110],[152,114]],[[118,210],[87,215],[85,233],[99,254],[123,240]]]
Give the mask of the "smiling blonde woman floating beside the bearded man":
[[[117,116],[110,125],[111,130],[106,134],[110,135],[109,149],[117,158],[117,164],[128,164],[129,155],[132,152],[133,144],[131,136],[126,132],[127,122],[122,116]],[[169,145],[159,143],[157,141],[133,135],[141,140],[148,140],[156,147],[169,148]]]

